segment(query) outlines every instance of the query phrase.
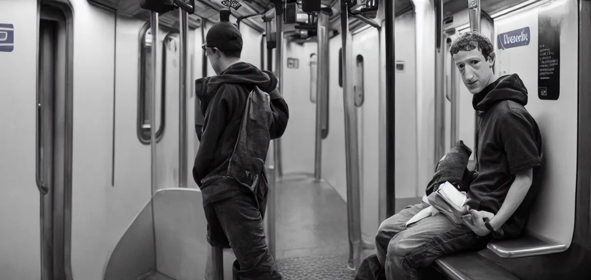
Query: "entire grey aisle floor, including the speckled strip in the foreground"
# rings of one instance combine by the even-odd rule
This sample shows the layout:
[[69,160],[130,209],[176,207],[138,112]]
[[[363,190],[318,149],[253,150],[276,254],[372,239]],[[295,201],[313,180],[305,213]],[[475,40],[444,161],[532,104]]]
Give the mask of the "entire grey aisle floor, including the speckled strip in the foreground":
[[286,175],[277,183],[277,266],[284,279],[353,279],[345,201],[326,183]]

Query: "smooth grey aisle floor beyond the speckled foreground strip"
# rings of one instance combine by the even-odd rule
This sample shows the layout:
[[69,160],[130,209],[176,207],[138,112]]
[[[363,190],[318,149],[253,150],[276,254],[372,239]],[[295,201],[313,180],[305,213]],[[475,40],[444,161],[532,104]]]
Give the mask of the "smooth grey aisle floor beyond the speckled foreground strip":
[[285,177],[276,190],[277,259],[348,254],[346,204],[334,188]]

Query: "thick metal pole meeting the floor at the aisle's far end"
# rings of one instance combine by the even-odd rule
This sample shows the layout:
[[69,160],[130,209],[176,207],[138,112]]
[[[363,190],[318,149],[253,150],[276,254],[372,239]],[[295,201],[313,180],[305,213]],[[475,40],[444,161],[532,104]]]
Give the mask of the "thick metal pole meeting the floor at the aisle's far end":
[[327,26],[329,15],[320,11],[318,13],[318,50],[316,64],[316,149],[314,154],[314,180],[320,182],[322,178],[322,125],[324,97],[328,90],[328,66],[326,63],[328,53]]

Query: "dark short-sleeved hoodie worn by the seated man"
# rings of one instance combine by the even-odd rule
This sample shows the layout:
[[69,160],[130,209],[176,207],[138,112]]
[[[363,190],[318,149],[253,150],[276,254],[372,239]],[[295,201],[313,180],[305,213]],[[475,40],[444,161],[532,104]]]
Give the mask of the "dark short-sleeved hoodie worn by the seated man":
[[472,105],[480,114],[475,151],[478,177],[470,184],[466,203],[496,214],[515,174],[533,168],[530,190],[501,227],[504,238],[517,237],[540,188],[542,139],[537,123],[524,108],[527,89],[517,74],[502,76],[474,95]]

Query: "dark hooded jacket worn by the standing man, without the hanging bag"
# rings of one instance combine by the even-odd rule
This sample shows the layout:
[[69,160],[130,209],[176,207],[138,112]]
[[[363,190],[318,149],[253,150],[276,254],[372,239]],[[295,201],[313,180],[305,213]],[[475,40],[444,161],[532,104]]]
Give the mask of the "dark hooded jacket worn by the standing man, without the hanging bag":
[[[277,85],[278,80],[271,72],[243,62],[233,64],[217,76],[196,81],[196,95],[205,113],[202,133],[198,134],[200,144],[193,164],[193,179],[202,190],[204,203],[241,193],[243,189],[235,184],[236,180],[239,185],[252,186],[260,177],[269,141],[283,135],[289,118],[287,103]],[[255,88],[268,93],[269,102],[255,103],[252,110],[247,103]],[[265,111],[257,116],[258,106],[268,106],[268,115]],[[252,112],[247,114],[248,120],[243,118],[245,110]],[[261,116],[264,119],[259,119]],[[241,146],[237,146],[243,123],[249,129],[239,143]]]

